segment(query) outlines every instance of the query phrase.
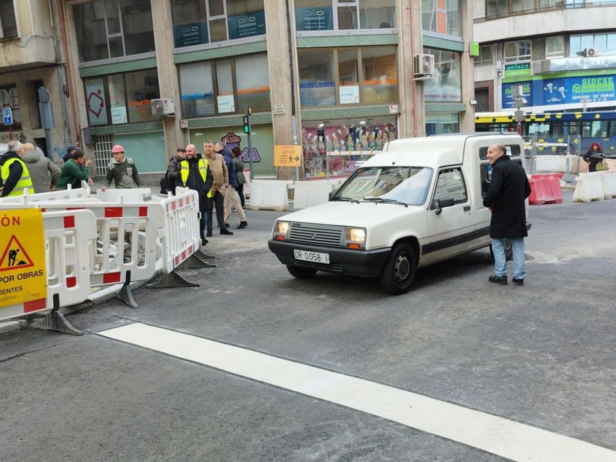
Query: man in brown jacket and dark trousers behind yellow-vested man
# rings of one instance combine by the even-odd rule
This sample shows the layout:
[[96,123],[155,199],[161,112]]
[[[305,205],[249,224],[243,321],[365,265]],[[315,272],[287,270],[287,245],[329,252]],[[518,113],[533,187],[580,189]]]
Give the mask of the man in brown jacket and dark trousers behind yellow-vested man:
[[212,182],[212,188],[209,190],[210,196],[208,198],[208,233],[207,237],[212,235],[212,225],[214,224],[214,206],[216,206],[216,221],[221,234],[232,235],[225,227],[224,221],[224,201],[225,190],[229,187],[229,171],[227,170],[227,164],[224,157],[214,152],[214,142],[207,140],[203,143],[203,158],[208,162],[214,181]]

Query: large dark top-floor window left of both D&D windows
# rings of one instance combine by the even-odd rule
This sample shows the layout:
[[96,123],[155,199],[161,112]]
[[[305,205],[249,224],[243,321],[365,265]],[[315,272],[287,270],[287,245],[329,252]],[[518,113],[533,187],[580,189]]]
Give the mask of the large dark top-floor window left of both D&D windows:
[[73,5],[81,62],[152,52],[149,0],[95,0]]

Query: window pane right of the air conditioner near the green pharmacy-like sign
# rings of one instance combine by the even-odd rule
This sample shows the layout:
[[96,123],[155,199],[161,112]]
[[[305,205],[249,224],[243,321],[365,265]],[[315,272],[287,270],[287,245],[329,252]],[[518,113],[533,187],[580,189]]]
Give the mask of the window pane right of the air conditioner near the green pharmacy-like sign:
[[434,55],[436,74],[436,78],[424,81],[426,102],[460,102],[460,53],[432,48],[424,48],[424,53]]

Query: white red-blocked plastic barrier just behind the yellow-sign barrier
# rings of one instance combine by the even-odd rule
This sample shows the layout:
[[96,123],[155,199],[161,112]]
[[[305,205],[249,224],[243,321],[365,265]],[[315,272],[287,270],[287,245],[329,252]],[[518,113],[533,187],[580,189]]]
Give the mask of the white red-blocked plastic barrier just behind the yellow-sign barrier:
[[[157,202],[41,202],[0,204],[0,209],[38,206],[43,211],[88,209],[96,217],[95,243],[89,246],[90,285],[149,280],[156,272],[158,230],[164,211]],[[68,261],[71,263],[71,261]]]

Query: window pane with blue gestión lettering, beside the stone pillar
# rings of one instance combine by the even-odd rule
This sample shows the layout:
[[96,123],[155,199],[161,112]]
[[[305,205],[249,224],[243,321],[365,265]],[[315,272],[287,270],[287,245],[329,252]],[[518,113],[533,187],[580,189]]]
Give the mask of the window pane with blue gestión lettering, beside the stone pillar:
[[334,54],[332,50],[298,50],[299,98],[302,106],[333,106]]

